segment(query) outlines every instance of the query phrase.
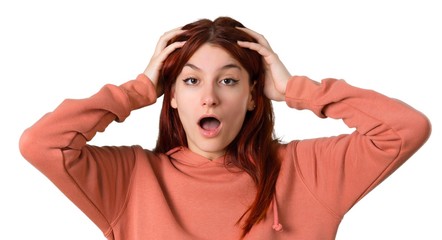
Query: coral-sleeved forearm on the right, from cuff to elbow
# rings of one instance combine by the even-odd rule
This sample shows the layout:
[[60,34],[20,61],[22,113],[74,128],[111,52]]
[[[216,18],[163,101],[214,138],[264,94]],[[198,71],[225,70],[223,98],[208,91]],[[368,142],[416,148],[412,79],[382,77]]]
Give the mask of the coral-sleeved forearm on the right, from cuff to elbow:
[[409,155],[430,134],[430,123],[419,111],[343,80],[325,79],[318,84],[307,77],[293,77],[287,86],[286,102],[296,109],[309,109],[319,117],[342,119],[385,151],[395,151],[391,140],[396,139],[400,143],[393,148]]

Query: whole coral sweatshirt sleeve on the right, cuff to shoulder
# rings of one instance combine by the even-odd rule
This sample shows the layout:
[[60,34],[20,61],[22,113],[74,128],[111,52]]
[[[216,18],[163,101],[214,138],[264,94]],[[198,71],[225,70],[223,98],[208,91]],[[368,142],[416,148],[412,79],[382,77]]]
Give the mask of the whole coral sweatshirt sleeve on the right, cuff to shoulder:
[[290,151],[304,183],[338,217],[409,159],[431,132],[421,112],[344,80],[317,83],[292,77],[286,103],[321,118],[342,119],[356,129],[351,134],[303,140]]

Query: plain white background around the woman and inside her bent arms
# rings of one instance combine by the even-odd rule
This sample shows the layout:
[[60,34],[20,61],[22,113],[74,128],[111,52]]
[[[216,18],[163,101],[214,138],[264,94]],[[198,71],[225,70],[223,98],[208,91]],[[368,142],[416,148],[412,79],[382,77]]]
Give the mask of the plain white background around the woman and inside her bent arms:
[[[28,164],[22,131],[64,98],[133,79],[165,31],[231,16],[260,32],[291,74],[345,79],[399,98],[433,124],[429,141],[344,218],[337,239],[442,239],[438,1],[31,1],[0,3],[0,238],[104,239]],[[159,104],[111,125],[94,144],[155,144]],[[275,104],[284,140],[336,135],[341,121]]]

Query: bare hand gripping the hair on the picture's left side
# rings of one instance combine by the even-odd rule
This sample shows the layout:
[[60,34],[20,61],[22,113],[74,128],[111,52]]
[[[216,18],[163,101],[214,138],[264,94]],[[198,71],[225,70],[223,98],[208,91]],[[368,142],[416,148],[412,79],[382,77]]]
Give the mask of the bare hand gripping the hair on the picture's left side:
[[164,60],[172,53],[175,49],[181,48],[185,42],[174,42],[167,46],[167,42],[173,37],[183,33],[186,30],[182,30],[181,27],[172,29],[165,32],[159,39],[157,46],[155,47],[155,52],[149,61],[146,69],[144,70],[144,75],[146,75],[150,81],[155,85],[157,90],[157,97],[163,95],[162,84],[158,82],[161,67],[163,66]]

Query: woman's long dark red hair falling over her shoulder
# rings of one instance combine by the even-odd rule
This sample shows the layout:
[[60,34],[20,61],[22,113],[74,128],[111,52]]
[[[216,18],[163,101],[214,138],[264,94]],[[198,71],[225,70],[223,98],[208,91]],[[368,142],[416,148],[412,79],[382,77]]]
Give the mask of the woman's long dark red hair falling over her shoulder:
[[238,220],[242,221],[243,237],[254,224],[265,218],[275,193],[280,161],[276,154],[277,141],[274,139],[274,116],[271,101],[264,95],[265,69],[262,57],[256,51],[242,48],[238,40],[256,40],[236,27],[244,27],[240,22],[219,17],[214,21],[201,19],[185,25],[184,33],[171,39],[168,44],[186,41],[184,46],[172,52],[164,61],[159,81],[164,89],[160,127],[155,152],[164,153],[177,146],[187,146],[186,133],[178,112],[172,108],[171,89],[195,51],[205,43],[222,47],[246,69],[250,84],[255,83],[252,93],[255,109],[248,111],[242,128],[236,138],[227,146],[226,155],[238,168],[246,171],[256,184],[257,193],[249,209]]

